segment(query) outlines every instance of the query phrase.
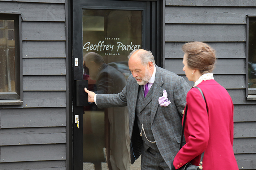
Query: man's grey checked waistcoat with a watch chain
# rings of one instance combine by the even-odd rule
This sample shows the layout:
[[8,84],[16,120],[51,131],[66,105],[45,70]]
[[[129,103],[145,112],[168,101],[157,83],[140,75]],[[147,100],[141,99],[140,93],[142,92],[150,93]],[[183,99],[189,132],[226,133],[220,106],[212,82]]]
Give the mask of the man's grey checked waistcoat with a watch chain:
[[[153,84],[154,85],[154,84]],[[152,87],[153,87],[152,85]],[[142,124],[144,126],[144,130],[148,140],[155,141],[153,137],[153,133],[151,130],[151,99],[153,94],[153,88],[150,88],[146,98],[144,98],[144,90],[143,86],[139,87],[138,98],[136,103],[136,116],[137,116],[137,123],[139,127],[139,132],[142,130]],[[144,132],[142,132],[142,140],[143,140],[143,147],[147,150],[149,147],[158,151],[156,143],[151,143],[145,137]]]

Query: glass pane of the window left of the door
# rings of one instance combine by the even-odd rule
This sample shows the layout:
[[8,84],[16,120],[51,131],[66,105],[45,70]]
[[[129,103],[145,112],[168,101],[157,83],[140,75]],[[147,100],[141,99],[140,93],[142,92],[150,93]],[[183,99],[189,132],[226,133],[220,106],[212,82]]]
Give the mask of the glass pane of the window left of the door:
[[16,91],[14,20],[0,20],[0,94]]

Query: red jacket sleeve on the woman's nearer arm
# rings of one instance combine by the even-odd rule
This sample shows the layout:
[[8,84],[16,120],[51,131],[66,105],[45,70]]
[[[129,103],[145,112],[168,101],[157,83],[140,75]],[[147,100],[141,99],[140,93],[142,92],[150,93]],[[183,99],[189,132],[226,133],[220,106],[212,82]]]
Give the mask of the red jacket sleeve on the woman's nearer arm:
[[206,149],[209,141],[209,120],[206,103],[198,89],[193,88],[188,92],[187,107],[184,133],[186,144],[175,156],[174,166],[180,165],[180,163],[185,165],[200,155]]

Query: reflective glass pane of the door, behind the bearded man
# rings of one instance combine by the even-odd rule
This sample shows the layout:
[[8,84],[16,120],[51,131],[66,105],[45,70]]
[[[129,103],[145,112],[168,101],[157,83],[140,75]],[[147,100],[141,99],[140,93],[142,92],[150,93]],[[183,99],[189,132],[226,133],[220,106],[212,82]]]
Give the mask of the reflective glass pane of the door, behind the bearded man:
[[[83,9],[83,79],[99,94],[122,91],[130,75],[127,55],[142,48],[142,11]],[[84,107],[84,169],[130,169],[127,107]]]

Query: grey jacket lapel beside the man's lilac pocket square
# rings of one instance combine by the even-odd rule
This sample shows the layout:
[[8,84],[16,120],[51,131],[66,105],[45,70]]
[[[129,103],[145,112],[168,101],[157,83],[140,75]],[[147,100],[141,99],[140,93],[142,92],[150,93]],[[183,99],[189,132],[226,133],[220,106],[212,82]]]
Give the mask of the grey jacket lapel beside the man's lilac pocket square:
[[152,95],[152,101],[151,101],[151,124],[153,123],[157,108],[159,106],[158,99],[159,97],[162,96],[163,90],[164,90],[161,88],[161,86],[164,84],[164,82],[162,81],[161,70],[158,66],[155,66],[155,67],[156,67],[156,77],[154,82],[155,85],[151,87],[153,88],[153,95]]

